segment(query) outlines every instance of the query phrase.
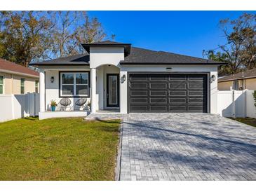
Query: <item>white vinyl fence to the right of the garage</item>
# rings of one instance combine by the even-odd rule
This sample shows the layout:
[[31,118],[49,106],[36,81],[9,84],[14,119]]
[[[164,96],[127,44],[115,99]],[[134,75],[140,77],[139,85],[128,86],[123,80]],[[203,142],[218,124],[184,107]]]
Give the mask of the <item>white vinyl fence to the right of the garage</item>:
[[217,95],[218,114],[225,117],[256,118],[254,90],[219,90]]

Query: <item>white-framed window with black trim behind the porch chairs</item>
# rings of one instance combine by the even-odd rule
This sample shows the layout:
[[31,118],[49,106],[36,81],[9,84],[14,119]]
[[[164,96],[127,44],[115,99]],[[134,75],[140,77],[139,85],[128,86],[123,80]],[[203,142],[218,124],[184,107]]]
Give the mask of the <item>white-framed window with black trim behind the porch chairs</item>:
[[60,96],[88,97],[89,73],[88,72],[61,72]]

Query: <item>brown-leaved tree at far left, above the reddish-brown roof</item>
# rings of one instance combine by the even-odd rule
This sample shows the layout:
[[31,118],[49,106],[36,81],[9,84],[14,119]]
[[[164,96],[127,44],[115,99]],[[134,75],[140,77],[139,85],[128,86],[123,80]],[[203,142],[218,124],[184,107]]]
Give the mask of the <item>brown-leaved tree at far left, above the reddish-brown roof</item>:
[[0,55],[27,67],[43,58],[54,24],[43,12],[1,11]]

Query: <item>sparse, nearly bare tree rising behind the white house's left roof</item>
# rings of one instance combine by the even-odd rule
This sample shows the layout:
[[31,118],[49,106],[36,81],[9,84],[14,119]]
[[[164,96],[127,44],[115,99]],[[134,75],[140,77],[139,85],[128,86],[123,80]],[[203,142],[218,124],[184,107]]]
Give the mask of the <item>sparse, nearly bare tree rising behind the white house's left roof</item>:
[[81,43],[102,41],[106,37],[97,18],[90,19],[85,11],[50,12],[55,18],[51,57],[65,57],[83,53]]

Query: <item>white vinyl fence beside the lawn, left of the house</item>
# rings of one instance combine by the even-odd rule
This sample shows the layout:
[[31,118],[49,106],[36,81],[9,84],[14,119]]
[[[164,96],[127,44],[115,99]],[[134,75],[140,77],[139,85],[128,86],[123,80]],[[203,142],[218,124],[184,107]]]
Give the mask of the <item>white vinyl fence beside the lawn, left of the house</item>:
[[27,116],[38,116],[39,94],[0,95],[0,122]]

